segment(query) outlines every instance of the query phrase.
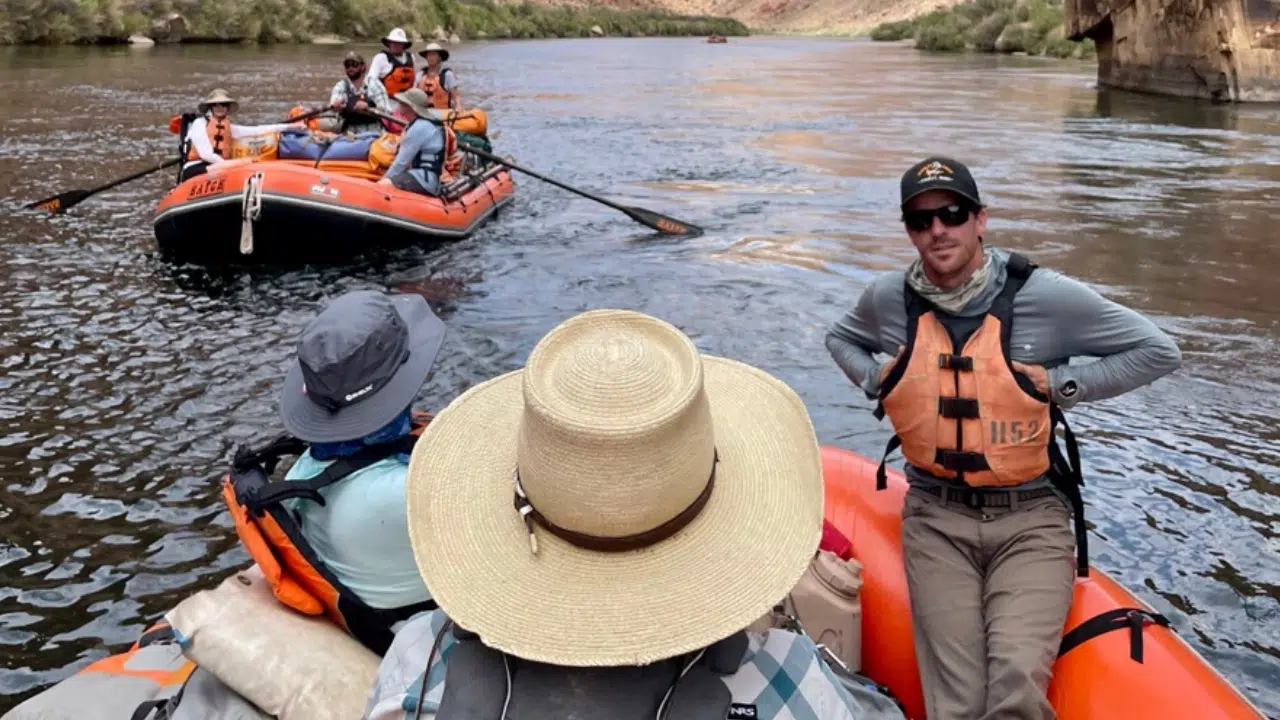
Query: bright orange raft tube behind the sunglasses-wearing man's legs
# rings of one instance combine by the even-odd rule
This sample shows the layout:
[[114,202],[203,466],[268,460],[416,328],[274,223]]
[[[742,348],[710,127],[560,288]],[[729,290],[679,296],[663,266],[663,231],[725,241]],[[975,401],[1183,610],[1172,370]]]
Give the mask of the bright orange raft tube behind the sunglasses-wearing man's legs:
[[[827,520],[845,533],[863,565],[861,671],[887,685],[909,717],[924,719],[902,569],[901,511],[906,480],[891,471],[888,488],[877,492],[877,464],[835,447],[823,447],[822,466]],[[1075,600],[1064,633],[1103,614],[1124,616],[1129,610],[1153,612],[1093,568],[1088,578],[1075,580]],[[1140,641],[1142,662],[1130,656],[1134,641]],[[1060,720],[1263,717],[1176,633],[1158,624],[1130,628],[1121,621],[1117,629],[1093,635],[1060,655],[1048,694]]]

